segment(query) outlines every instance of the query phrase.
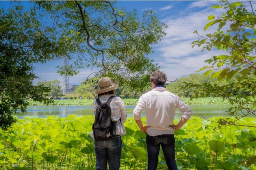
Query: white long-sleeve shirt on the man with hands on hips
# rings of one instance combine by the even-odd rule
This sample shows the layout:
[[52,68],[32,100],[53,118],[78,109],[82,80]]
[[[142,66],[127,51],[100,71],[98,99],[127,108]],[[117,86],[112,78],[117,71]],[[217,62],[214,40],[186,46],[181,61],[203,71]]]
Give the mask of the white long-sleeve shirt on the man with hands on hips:
[[191,117],[191,109],[175,94],[165,88],[152,89],[143,94],[133,110],[134,120],[141,119],[141,112],[145,109],[147,134],[158,136],[162,134],[174,134],[173,125],[176,109],[182,113],[182,118]]

